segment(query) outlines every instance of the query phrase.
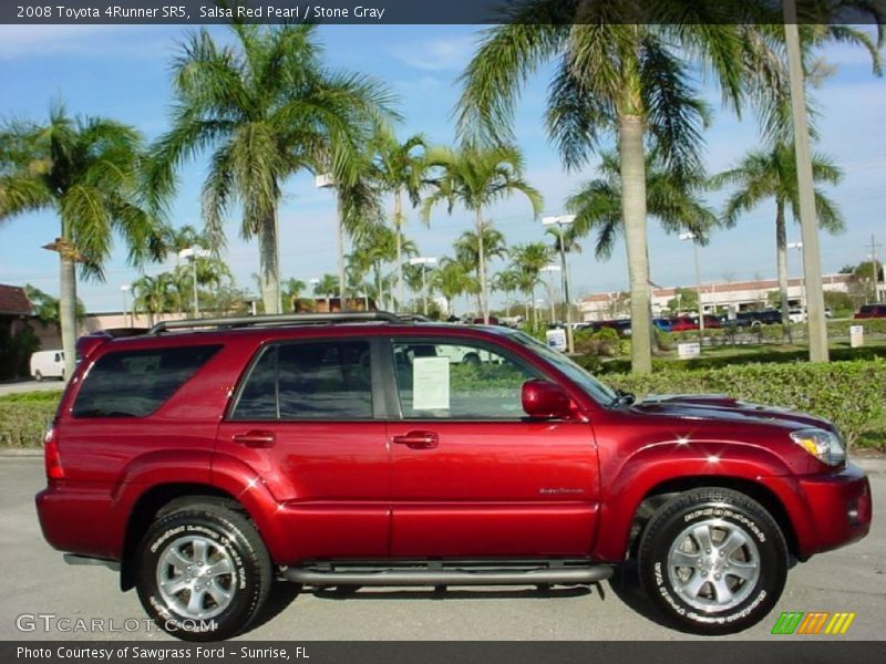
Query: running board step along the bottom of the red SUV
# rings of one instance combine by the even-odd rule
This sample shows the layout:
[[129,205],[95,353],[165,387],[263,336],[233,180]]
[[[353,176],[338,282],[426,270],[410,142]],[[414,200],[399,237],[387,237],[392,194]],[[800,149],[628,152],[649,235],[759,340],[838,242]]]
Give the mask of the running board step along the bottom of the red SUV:
[[[473,567],[473,566],[472,566]],[[306,585],[535,585],[583,584],[605,581],[612,575],[610,566],[550,567],[526,570],[477,569],[396,569],[336,571],[317,568],[287,568],[289,581]]]

